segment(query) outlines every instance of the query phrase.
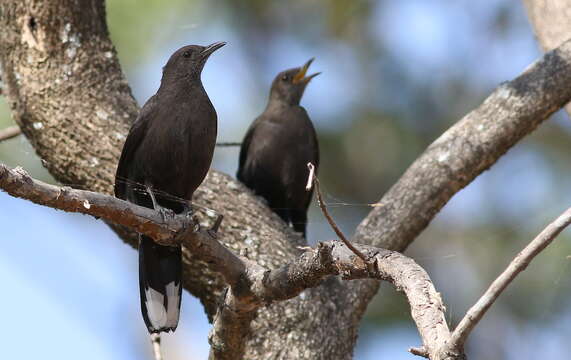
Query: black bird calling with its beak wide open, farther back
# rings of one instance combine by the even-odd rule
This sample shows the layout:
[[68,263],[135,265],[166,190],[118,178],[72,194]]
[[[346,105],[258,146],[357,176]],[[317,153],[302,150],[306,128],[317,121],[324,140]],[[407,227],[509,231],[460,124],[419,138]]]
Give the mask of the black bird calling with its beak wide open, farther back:
[[279,73],[272,83],[264,112],[252,123],[240,148],[238,180],[262,196],[295,231],[306,235],[311,192],[305,190],[307,163],[319,166],[313,124],[299,105],[309,81],[313,59],[300,68]]

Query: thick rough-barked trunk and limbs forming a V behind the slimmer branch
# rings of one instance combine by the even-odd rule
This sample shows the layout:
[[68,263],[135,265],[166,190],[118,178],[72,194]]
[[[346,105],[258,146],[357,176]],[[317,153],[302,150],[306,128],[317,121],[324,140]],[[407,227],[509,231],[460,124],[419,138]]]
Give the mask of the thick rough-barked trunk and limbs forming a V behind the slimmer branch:
[[[54,177],[109,193],[137,108],[104,15],[101,0],[3,0],[0,70],[14,119]],[[571,99],[570,59],[571,44],[565,43],[501,85],[412,164],[353,241],[405,249],[457,191]],[[299,236],[230,177],[212,171],[195,202],[224,214],[221,241],[260,266],[276,269],[299,255]],[[207,212],[203,219],[214,217]],[[212,316],[223,281],[188,251],[184,260],[185,287]],[[250,324],[245,358],[351,358],[377,288],[373,280],[331,278],[268,306]]]

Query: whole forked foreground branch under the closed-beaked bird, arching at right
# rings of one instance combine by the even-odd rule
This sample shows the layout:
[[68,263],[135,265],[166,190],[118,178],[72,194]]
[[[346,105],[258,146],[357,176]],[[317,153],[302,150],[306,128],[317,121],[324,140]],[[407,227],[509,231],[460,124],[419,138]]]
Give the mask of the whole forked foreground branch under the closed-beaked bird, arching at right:
[[0,188],[38,204],[131,227],[164,245],[181,243],[194,257],[220,273],[230,289],[215,317],[210,336],[211,359],[241,358],[243,339],[248,335],[249,323],[257,309],[291,299],[318,286],[330,275],[341,275],[346,280],[386,280],[402,290],[429,352],[439,349],[450,336],[444,304],[428,274],[412,259],[396,252],[355,245],[358,253],[366,258],[363,261],[344,244],[327,242],[285,266],[268,270],[235,255],[185,215],[174,215],[163,222],[161,215],[152,209],[109,195],[49,185],[32,179],[21,168],[12,170],[2,164]]

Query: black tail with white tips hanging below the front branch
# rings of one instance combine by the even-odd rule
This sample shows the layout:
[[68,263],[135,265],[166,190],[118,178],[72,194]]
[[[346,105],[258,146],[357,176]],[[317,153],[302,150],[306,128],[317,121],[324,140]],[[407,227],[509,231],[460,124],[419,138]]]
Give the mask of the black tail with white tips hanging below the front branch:
[[174,331],[182,295],[180,247],[162,246],[139,236],[141,311],[150,333]]

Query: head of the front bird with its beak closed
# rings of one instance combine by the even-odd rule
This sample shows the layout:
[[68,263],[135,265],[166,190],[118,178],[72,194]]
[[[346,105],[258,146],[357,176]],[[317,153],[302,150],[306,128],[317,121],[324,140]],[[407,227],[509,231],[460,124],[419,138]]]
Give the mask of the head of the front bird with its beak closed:
[[225,42],[215,42],[208,46],[187,45],[175,51],[163,68],[163,78],[200,78],[206,60],[216,50],[226,45]]

